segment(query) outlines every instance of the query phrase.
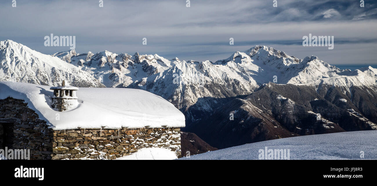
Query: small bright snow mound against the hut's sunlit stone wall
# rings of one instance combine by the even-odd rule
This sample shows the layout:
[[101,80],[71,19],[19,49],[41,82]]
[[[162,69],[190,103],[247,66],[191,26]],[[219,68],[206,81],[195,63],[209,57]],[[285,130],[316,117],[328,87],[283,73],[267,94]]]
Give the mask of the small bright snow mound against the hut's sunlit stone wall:
[[163,148],[142,148],[137,152],[116,160],[174,160],[177,158],[175,151]]

